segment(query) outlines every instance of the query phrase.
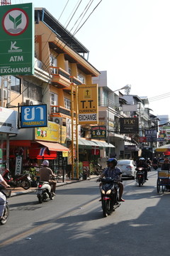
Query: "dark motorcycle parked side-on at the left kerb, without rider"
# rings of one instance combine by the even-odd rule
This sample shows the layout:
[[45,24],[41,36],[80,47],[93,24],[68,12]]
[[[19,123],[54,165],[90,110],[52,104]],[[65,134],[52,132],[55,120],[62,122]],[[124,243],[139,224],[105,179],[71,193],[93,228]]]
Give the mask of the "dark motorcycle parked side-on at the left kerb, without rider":
[[12,178],[11,172],[8,169],[6,169],[2,176],[6,183],[8,183],[8,185],[10,185],[13,188],[21,187],[24,189],[28,189],[31,186],[31,178],[29,174],[20,174]]

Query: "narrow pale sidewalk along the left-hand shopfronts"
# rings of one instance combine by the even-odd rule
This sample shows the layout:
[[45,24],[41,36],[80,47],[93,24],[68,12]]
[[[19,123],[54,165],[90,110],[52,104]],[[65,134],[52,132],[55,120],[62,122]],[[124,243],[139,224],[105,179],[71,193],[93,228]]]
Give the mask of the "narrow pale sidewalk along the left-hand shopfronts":
[[[91,175],[91,178],[97,178],[96,175]],[[90,180],[91,178],[87,178],[87,180]],[[57,182],[57,186],[64,186],[64,185],[67,185],[67,184],[70,184],[70,183],[75,183],[75,182],[80,182],[80,181],[86,181],[86,180],[83,180],[83,179],[80,179],[80,180],[65,180],[64,182],[62,182],[62,179],[61,181],[58,181]],[[11,188],[11,196],[20,196],[20,195],[23,195],[23,194],[26,194],[26,193],[32,193],[32,192],[35,192],[36,191],[36,188],[29,188],[29,189],[23,189],[21,187],[18,187],[18,188]]]

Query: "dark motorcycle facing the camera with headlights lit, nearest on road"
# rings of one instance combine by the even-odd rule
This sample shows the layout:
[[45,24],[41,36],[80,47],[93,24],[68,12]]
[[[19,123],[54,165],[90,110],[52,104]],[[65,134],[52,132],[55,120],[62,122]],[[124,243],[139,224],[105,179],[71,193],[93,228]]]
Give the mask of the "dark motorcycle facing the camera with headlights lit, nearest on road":
[[110,177],[100,178],[98,181],[101,181],[101,208],[103,210],[103,217],[107,217],[120,206],[120,202],[118,201],[118,181]]

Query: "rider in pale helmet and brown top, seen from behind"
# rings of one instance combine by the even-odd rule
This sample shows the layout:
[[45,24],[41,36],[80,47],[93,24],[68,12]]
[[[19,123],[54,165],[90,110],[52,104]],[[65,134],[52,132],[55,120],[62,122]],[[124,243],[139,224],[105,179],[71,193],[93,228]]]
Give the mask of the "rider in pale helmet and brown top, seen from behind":
[[55,178],[56,175],[53,173],[52,169],[49,167],[49,161],[44,160],[42,161],[42,168],[40,168],[40,181],[48,181],[52,188],[52,194],[55,196],[55,188],[56,188],[56,181],[52,178]]

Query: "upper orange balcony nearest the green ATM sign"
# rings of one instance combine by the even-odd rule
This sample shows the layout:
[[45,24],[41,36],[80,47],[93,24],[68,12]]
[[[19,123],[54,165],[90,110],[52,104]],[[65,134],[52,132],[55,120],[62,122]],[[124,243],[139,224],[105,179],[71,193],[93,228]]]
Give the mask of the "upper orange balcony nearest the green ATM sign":
[[52,75],[52,85],[55,85],[58,88],[70,86],[69,73],[67,73],[67,71],[53,66],[50,66],[50,70]]

